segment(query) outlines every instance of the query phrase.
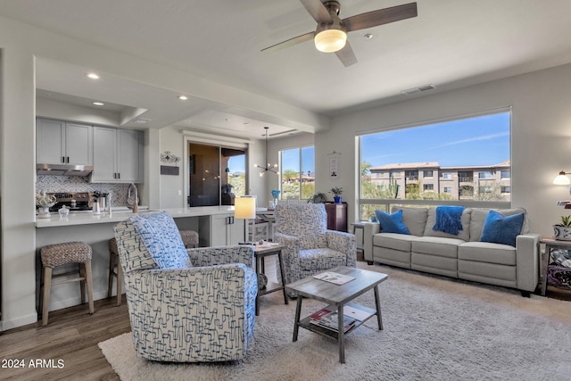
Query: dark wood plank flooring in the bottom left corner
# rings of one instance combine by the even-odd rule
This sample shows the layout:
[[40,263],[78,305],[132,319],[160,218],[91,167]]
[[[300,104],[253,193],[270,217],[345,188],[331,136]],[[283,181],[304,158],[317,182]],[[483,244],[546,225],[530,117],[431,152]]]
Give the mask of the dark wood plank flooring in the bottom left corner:
[[[39,321],[0,332],[0,379],[119,380],[97,346],[130,331],[125,295],[115,304],[114,297],[96,301],[93,315],[87,304],[53,311],[46,327]],[[23,368],[10,360],[23,360]]]

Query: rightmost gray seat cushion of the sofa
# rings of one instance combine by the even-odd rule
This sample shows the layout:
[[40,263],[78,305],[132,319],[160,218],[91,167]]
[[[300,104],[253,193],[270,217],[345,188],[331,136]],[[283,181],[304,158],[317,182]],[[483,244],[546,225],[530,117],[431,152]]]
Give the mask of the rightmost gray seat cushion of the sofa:
[[467,242],[459,245],[458,259],[516,266],[516,248],[509,244]]

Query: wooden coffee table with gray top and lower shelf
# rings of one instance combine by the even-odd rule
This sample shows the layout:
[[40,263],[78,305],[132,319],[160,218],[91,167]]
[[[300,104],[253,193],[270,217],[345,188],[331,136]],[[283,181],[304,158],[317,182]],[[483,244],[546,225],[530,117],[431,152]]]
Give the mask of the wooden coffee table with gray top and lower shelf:
[[[338,266],[333,269],[327,269],[328,272],[335,272],[339,274],[348,275],[350,277],[355,277],[355,279],[345,283],[344,285],[335,285],[334,283],[327,282],[325,280],[317,279],[313,276],[305,277],[289,285],[285,285],[285,288],[289,291],[298,294],[297,306],[295,308],[295,322],[294,322],[294,342],[297,341],[297,334],[299,327],[315,332],[319,335],[326,335],[328,337],[333,337],[337,340],[339,344],[339,362],[345,362],[345,345],[344,337],[350,334],[357,327],[363,324],[368,319],[373,316],[377,316],[378,329],[383,329],[383,318],[381,316],[381,303],[378,296],[378,285],[384,282],[388,275],[382,274],[375,271],[368,271],[365,269],[355,269],[346,266]],[[321,272],[326,272],[321,271]],[[368,290],[373,289],[375,293],[375,305],[377,310],[372,310],[367,307],[360,306],[359,304],[352,303],[351,301],[355,299],[360,294],[366,293]],[[315,299],[321,302],[326,302],[328,304],[328,309],[331,311],[337,311],[337,329],[336,331],[328,329],[326,327],[320,327],[319,325],[311,323],[311,318],[308,316],[304,319],[300,319],[302,313],[302,300],[303,297]],[[368,313],[366,319],[355,321],[354,325],[343,332],[343,307],[350,306],[352,308],[358,309],[360,311],[365,311]]]

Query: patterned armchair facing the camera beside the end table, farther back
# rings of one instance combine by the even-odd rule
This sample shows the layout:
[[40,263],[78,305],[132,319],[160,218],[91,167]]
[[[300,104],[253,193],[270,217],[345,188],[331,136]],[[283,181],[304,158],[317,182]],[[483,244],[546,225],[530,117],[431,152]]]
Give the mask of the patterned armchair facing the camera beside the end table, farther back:
[[[277,205],[274,215],[274,240],[285,245],[282,250],[285,284],[335,266],[355,267],[355,236],[327,230],[323,203]],[[281,281],[279,269],[277,277]]]

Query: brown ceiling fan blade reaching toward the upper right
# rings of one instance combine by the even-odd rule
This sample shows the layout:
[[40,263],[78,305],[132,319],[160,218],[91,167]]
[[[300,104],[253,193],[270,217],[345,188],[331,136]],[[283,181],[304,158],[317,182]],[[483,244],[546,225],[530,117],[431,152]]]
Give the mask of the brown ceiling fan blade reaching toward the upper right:
[[378,25],[410,19],[417,16],[417,4],[410,3],[379,9],[377,11],[360,13],[343,19],[343,24],[345,24],[347,31],[352,31],[373,28]]

